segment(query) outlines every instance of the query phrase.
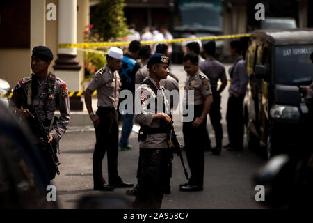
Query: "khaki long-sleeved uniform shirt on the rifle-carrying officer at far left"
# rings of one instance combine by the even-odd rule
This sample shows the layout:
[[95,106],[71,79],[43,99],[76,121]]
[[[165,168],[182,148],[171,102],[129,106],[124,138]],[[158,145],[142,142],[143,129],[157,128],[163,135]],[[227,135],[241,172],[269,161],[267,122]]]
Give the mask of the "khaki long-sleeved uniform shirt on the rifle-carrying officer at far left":
[[[48,77],[48,76],[47,76]],[[58,142],[63,134],[67,130],[67,125],[70,123],[70,99],[68,97],[67,87],[65,82],[60,78],[56,77],[56,83],[54,86],[54,93],[52,95],[46,94],[46,86],[45,82],[47,81],[47,77],[44,81],[39,82],[38,79],[38,93],[34,95],[32,106],[37,107],[38,113],[41,121],[45,121],[45,119],[51,120],[54,116],[54,112],[58,107],[60,109],[61,116],[59,117],[56,125],[53,125],[51,131],[52,137]],[[10,107],[13,109],[22,108],[22,98],[21,93],[18,91],[20,88],[24,88],[26,93],[29,91],[29,86],[31,86],[31,77],[25,77],[17,83],[15,90],[13,91],[12,100],[10,101]],[[45,96],[48,96],[47,99],[48,105],[46,106],[47,117],[45,116]]]

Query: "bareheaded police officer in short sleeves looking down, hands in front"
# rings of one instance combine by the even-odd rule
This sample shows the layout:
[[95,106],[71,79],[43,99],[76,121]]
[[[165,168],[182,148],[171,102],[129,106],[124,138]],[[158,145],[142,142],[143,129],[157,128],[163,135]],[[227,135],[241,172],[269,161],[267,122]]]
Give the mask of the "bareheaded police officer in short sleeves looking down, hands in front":
[[[207,139],[205,129],[213,98],[209,79],[198,68],[198,56],[186,54],[183,65],[188,76],[184,86],[186,91],[184,102],[187,111],[192,111],[191,107],[194,108],[194,115],[192,121],[183,121],[185,150],[191,178],[188,183],[180,185],[179,190],[199,191],[203,190],[204,149]],[[189,91],[194,93],[193,101],[189,101]],[[184,114],[184,116],[189,115]]]

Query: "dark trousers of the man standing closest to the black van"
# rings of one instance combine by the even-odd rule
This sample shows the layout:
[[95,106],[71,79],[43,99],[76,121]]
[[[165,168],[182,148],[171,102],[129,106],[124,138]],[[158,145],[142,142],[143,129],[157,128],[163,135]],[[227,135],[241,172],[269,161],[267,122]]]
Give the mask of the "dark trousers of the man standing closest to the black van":
[[245,95],[240,95],[238,98],[230,96],[227,102],[227,131],[230,147],[236,150],[243,149],[243,98]]

